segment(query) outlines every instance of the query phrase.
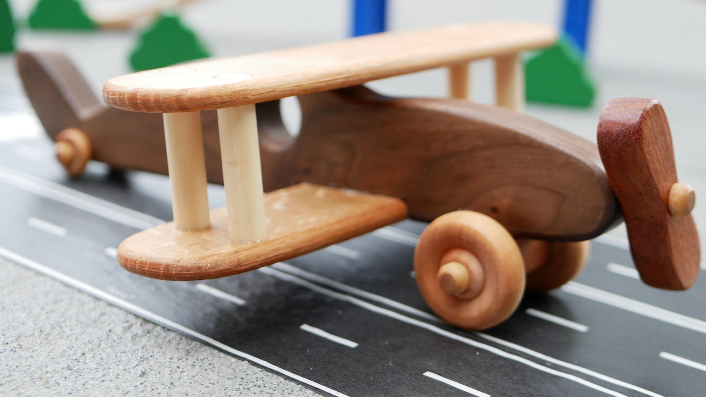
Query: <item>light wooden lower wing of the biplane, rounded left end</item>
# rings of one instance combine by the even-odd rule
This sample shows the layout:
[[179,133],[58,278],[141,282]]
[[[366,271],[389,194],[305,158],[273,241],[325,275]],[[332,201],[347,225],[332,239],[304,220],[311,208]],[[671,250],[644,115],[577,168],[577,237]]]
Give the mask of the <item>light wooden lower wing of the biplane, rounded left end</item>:
[[173,222],[128,237],[118,248],[122,267],[164,280],[215,279],[257,269],[340,243],[407,217],[392,197],[301,183],[265,195],[268,239],[228,238],[225,207],[211,211],[210,228],[179,231]]

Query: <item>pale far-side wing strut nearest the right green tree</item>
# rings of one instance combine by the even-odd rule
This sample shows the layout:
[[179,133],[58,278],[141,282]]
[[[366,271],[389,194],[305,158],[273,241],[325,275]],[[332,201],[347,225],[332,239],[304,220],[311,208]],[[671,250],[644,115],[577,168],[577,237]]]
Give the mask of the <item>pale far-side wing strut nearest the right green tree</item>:
[[520,54],[495,59],[496,103],[514,111],[525,109],[525,72]]

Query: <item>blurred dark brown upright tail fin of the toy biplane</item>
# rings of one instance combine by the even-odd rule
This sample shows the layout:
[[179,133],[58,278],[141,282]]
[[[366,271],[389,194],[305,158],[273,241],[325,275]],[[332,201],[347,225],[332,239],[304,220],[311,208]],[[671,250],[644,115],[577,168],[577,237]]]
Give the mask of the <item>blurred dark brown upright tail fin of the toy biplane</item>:
[[52,138],[107,107],[61,52],[20,50],[16,63],[32,107]]

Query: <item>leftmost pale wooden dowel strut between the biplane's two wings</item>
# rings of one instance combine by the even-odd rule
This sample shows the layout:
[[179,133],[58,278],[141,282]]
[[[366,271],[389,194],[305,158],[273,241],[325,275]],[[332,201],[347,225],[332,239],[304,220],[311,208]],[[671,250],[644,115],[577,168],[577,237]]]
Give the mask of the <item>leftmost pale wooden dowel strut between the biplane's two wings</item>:
[[179,230],[206,228],[210,220],[201,115],[198,111],[165,113],[164,138],[174,224]]

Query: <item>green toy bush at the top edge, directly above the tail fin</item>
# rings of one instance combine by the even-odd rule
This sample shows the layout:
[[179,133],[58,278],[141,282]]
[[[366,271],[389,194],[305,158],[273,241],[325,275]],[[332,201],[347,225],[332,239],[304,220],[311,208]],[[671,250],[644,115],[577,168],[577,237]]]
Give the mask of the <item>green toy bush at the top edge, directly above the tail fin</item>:
[[30,13],[32,29],[95,29],[78,0],[40,0]]

